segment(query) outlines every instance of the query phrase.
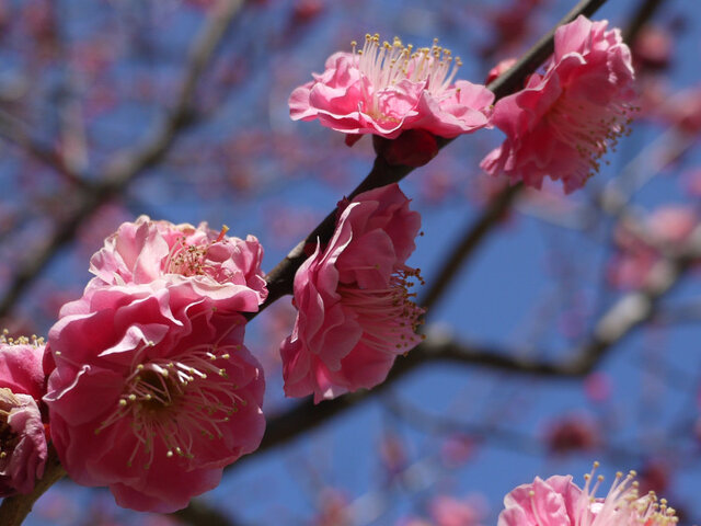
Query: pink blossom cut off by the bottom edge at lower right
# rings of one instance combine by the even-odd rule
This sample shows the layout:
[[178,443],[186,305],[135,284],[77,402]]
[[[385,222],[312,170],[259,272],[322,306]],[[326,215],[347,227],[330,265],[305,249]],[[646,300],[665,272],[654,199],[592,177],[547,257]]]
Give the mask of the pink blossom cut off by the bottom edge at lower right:
[[[595,469],[598,464],[595,464]],[[640,496],[635,472],[616,474],[608,494],[597,498],[604,481],[594,472],[585,477],[584,489],[572,482],[572,476],[536,477],[504,498],[504,511],[497,526],[667,526],[678,522],[675,511],[654,493]]]

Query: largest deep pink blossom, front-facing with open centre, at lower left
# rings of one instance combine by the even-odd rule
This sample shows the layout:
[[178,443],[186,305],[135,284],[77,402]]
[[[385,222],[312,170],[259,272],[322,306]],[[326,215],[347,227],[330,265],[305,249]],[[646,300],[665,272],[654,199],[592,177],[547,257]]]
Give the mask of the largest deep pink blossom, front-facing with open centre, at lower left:
[[74,481],[162,513],[215,488],[265,427],[245,319],[217,308],[229,297],[169,279],[95,287],[73,302],[49,331],[55,370],[45,397]]

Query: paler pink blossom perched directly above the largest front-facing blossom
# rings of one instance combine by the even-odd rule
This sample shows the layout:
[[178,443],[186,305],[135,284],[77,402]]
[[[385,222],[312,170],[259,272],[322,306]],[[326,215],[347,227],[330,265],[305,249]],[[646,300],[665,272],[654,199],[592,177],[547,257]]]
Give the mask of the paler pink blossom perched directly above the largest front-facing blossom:
[[205,222],[195,228],[152,221],[147,216],[125,222],[90,260],[90,272],[97,278],[89,288],[189,282],[203,296],[228,298],[232,310],[255,311],[267,297],[261,272],[263,248],[253,236],[230,238],[227,230],[210,230]]

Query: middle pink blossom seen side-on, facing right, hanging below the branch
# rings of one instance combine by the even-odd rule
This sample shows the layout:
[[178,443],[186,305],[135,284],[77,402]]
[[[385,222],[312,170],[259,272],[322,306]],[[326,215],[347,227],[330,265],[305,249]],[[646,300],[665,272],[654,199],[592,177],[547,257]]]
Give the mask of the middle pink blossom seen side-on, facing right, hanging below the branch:
[[299,312],[280,346],[285,392],[332,399],[384,380],[398,354],[410,351],[422,309],[412,302],[404,264],[421,216],[391,184],[340,203],[335,232],[295,276]]

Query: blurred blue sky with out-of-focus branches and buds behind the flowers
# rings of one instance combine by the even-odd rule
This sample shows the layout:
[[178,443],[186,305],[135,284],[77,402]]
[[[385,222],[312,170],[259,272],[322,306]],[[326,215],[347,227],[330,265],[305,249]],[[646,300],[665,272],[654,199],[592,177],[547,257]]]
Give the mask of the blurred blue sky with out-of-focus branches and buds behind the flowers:
[[[329,55],[366,33],[439,37],[458,77],[484,82],[574,3],[0,0],[0,327],[45,335],[90,255],[141,214],[254,233],[272,268],[375,157],[369,138],[348,148],[289,119],[289,93]],[[633,48],[632,135],[570,196],[506,198],[479,169],[498,130],[402,182],[432,306],[426,343],[381,389],[286,400],[285,297],[246,334],[267,380],[264,448],[217,490],[158,516],[64,480],[26,524],[493,525],[514,487],[582,484],[594,460],[607,481],[637,470],[681,524],[701,523],[701,7],[616,0],[593,18]]]

